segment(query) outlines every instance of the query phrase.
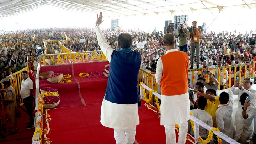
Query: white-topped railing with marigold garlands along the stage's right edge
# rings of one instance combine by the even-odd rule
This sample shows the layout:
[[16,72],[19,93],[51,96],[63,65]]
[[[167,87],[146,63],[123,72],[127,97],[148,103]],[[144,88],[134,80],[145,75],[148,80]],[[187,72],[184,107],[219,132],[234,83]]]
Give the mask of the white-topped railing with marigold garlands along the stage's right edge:
[[[141,99],[144,99],[143,88],[145,90],[147,90],[147,91],[151,91],[152,90],[147,85],[140,84],[140,98]],[[156,92],[152,92],[152,94],[159,99],[158,101],[161,101],[161,95],[160,94],[158,94]],[[159,103],[159,105],[161,104],[160,102],[158,102],[158,103]],[[160,106],[157,109],[160,110]],[[195,134],[194,140],[195,140],[195,143],[199,142],[199,126],[202,126],[203,128],[207,129],[208,131],[209,130],[213,131],[213,127],[208,126],[206,123],[202,122],[201,120],[197,119],[196,117],[190,115],[190,119],[194,122],[194,134]],[[228,137],[227,135],[223,134],[222,132],[213,131],[213,133],[215,135],[219,136],[221,139],[225,140],[228,143],[239,144],[234,139],[231,139],[230,137]]]

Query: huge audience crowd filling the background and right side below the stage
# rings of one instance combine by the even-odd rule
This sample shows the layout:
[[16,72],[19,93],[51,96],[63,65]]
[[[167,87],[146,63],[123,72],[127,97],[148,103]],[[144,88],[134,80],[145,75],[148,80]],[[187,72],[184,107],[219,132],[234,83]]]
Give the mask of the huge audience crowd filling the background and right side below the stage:
[[[176,48],[180,50],[181,39],[179,37],[179,33],[182,31],[183,33],[188,34],[191,29],[186,23],[183,23],[184,27],[173,29],[172,33],[177,33],[176,38]],[[235,65],[241,63],[247,63],[255,61],[256,59],[256,38],[253,31],[240,33],[236,31],[208,31],[207,26],[203,24],[200,26],[200,31],[202,32],[202,37],[199,39],[199,68],[214,68],[225,65]],[[199,28],[200,28],[199,27]],[[158,58],[162,55],[165,55],[166,50],[164,49],[163,36],[165,32],[157,31],[140,31],[134,29],[122,29],[119,28],[118,31],[111,31],[110,29],[102,29],[102,33],[105,36],[107,42],[114,50],[118,50],[117,46],[117,37],[120,33],[129,33],[132,36],[132,50],[140,52],[143,60],[143,69],[149,68],[150,70],[156,70]],[[0,38],[0,80],[6,78],[12,73],[22,70],[22,68],[27,66],[27,58],[28,56],[38,57],[44,53],[44,43],[43,40],[62,40],[62,43],[66,46],[66,48],[74,51],[94,51],[101,50],[98,45],[96,33],[94,28],[58,28],[58,29],[33,29],[33,30],[20,30],[20,31],[8,31],[5,34],[23,34],[20,36],[9,36],[5,37],[4,35]],[[68,42],[64,42],[65,34],[69,38]],[[32,38],[35,36],[35,41],[32,42]],[[85,42],[80,42],[80,39],[86,39]],[[195,51],[191,51],[191,39],[186,38],[187,52],[189,59],[192,59],[192,53]],[[53,52],[58,52],[59,44],[57,42],[48,43],[53,46]],[[142,45],[141,45],[142,44]],[[140,46],[138,46],[140,45]],[[183,46],[184,44],[182,44]],[[38,49],[41,47],[42,49]],[[182,48],[183,51],[183,48]],[[193,54],[194,55],[194,54]],[[193,61],[190,63],[197,62],[197,55],[193,57]],[[249,73],[247,77],[245,77],[244,71],[245,67],[242,67],[242,84],[238,83],[238,81],[232,80],[231,91],[239,95],[239,100],[241,101],[241,105],[245,104],[245,96],[243,92],[249,94],[251,96],[251,100],[256,95],[256,91],[251,89],[251,82],[249,81]],[[36,68],[35,68],[36,70]],[[239,71],[239,69],[237,70]],[[216,71],[217,72],[217,71]],[[215,75],[212,72],[202,71],[201,75],[199,75],[197,81],[190,85],[190,89],[193,90],[194,94],[190,98],[191,100],[191,109],[206,106],[202,104],[202,98],[198,99],[199,95],[210,99],[210,101],[217,101],[216,91],[218,90],[218,85],[221,85],[223,88],[223,70],[221,71],[221,82],[217,81],[218,72]],[[232,69],[232,73],[229,76],[228,70],[226,70],[226,78],[231,77],[234,78],[234,69]],[[239,74],[240,72],[237,72]],[[208,74],[209,82],[206,82],[204,79],[204,74]],[[256,74],[255,74],[256,75]],[[224,84],[225,86],[225,84]],[[227,85],[228,86],[228,85]],[[239,87],[240,89],[235,90],[235,87]],[[240,92],[241,91],[241,92]],[[210,94],[209,95],[206,95]],[[214,97],[215,96],[215,97]],[[228,101],[232,102],[230,99]],[[198,99],[198,100],[197,100]],[[226,100],[219,100],[220,103],[225,103]],[[223,102],[224,101],[224,102]],[[200,104],[201,103],[201,104]],[[207,102],[208,103],[208,102]],[[231,105],[231,104],[230,104]],[[232,104],[233,105],[233,104]],[[203,108],[204,108],[203,107]],[[217,109],[215,109],[216,111]],[[244,108],[243,108],[244,110]],[[215,112],[214,111],[214,112]],[[230,113],[230,112],[229,112]],[[231,112],[232,113],[232,112]],[[241,113],[241,112],[240,112]],[[216,114],[217,115],[217,114]],[[212,115],[212,123],[210,126],[217,126],[220,128],[222,132],[226,135],[234,138],[238,142],[247,143],[249,139],[252,138],[252,128],[249,128],[249,125],[244,125],[244,127],[237,127],[237,133],[231,133],[231,131],[235,131],[235,129],[230,128],[231,126],[228,123],[219,122],[217,117],[216,119],[215,113]],[[227,114],[228,116],[228,114]],[[249,115],[250,116],[250,115]],[[214,119],[215,118],[215,119]],[[236,117],[236,121],[238,122],[236,126],[240,126],[242,121],[240,117]],[[253,117],[249,117],[252,123]],[[200,118],[199,118],[200,119]],[[202,121],[204,117],[201,118]],[[230,119],[226,118],[226,119]],[[232,119],[232,117],[231,117]],[[217,124],[216,124],[217,123]],[[222,124],[221,126],[218,124]],[[230,122],[229,122],[230,123]],[[233,123],[233,122],[232,122]],[[252,123],[253,124],[253,123]],[[226,127],[227,126],[227,127]],[[248,128],[247,128],[248,126]],[[232,126],[233,127],[233,126]],[[240,129],[247,128],[246,132],[249,134],[244,134],[244,132],[240,133]],[[227,132],[226,132],[227,130]],[[202,133],[201,133],[202,132]],[[239,133],[238,133],[239,132]],[[189,133],[193,135],[193,132],[189,130]],[[200,130],[200,135],[206,135],[206,131]]]

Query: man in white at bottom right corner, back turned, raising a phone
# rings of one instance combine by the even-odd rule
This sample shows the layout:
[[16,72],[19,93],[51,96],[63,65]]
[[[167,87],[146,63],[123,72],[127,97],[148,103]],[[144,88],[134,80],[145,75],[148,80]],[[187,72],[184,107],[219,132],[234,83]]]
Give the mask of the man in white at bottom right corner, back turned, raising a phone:
[[[242,106],[244,106],[247,96],[249,96],[247,93],[243,93],[241,95],[239,101],[241,102]],[[248,107],[246,111],[249,112],[252,108],[255,108],[255,107]],[[241,144],[245,144],[245,143],[248,144],[253,134],[254,118],[251,117],[251,118],[244,119],[242,116],[242,111],[243,110],[241,108],[239,108],[238,111],[236,111],[236,115],[235,115],[236,133],[234,136],[234,140],[236,140]]]

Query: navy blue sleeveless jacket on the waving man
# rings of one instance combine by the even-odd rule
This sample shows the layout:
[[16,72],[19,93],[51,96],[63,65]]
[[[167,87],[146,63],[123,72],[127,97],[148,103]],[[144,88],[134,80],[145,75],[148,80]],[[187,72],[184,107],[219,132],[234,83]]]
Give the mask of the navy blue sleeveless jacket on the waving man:
[[142,56],[131,48],[120,48],[111,55],[105,100],[116,104],[138,103],[138,75]]

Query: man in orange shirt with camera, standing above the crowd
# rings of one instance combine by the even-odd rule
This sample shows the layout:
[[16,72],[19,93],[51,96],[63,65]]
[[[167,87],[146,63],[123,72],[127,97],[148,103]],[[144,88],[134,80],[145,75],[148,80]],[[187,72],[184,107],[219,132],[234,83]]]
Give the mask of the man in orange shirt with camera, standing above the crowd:
[[202,32],[201,29],[196,28],[197,21],[193,21],[193,28],[190,29],[190,32],[188,32],[188,39],[190,39],[190,50],[191,50],[191,67],[190,69],[193,69],[193,62],[194,62],[194,52],[196,50],[196,56],[197,56],[197,68],[199,68],[199,62],[200,62],[200,38],[202,38]]

